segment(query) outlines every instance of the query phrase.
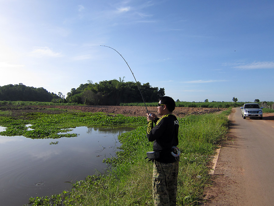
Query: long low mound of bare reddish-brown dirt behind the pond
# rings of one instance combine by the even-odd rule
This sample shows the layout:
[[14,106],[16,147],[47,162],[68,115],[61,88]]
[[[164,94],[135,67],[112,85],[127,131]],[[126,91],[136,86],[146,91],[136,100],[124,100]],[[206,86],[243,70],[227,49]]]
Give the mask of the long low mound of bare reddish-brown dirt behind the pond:
[[[69,111],[83,111],[83,112],[104,112],[107,114],[123,114],[125,116],[146,116],[146,107],[138,106],[29,106],[40,108],[59,108]],[[157,107],[147,107],[149,112],[157,114]],[[209,114],[226,110],[226,108],[195,108],[195,107],[176,107],[173,114],[177,117],[184,117],[189,114]]]

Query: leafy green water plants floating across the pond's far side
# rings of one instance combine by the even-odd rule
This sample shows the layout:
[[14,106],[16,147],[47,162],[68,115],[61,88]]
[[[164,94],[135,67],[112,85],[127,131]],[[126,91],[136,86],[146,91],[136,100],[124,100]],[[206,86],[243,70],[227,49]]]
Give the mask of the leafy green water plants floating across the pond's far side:
[[[59,134],[63,129],[90,125],[142,125],[145,117],[125,117],[124,115],[111,116],[103,113],[64,112],[61,114],[45,114],[40,112],[22,114],[22,119],[1,116],[0,125],[7,127],[0,135],[23,135],[32,139],[76,137],[77,134]],[[31,124],[33,130],[28,131],[26,126]],[[68,131],[68,130],[67,130]]]

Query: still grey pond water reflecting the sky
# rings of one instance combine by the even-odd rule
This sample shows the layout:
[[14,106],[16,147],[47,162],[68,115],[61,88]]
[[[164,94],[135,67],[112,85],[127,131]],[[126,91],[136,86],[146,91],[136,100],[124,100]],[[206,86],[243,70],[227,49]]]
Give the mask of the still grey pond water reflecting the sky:
[[77,127],[69,133],[79,136],[59,139],[0,136],[1,205],[28,204],[30,197],[70,190],[65,182],[103,172],[108,166],[103,159],[115,156],[121,145],[117,136],[133,129]]

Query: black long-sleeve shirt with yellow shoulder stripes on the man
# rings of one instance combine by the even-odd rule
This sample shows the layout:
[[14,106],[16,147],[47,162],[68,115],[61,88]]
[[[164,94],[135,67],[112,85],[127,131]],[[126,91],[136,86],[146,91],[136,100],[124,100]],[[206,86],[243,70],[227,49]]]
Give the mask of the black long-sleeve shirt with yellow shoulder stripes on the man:
[[148,121],[147,138],[149,142],[153,142],[153,150],[160,150],[159,162],[172,163],[176,159],[170,154],[172,146],[177,146],[179,123],[173,114],[163,115],[160,119],[154,120],[156,124],[153,127],[153,121]]

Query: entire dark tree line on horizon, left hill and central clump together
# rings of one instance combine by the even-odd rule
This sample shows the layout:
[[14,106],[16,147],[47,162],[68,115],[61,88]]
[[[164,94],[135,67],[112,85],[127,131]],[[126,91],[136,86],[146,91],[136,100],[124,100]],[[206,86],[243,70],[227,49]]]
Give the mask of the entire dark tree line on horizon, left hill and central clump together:
[[[165,95],[164,88],[152,87],[149,83],[141,84],[139,88],[146,102],[157,102],[160,96]],[[40,87],[19,85],[0,86],[0,100],[5,101],[37,101],[37,102],[69,102],[85,105],[119,105],[120,103],[143,102],[136,82],[119,80],[106,80],[99,83],[81,84],[77,89],[72,88],[67,97],[58,92],[48,92]]]

